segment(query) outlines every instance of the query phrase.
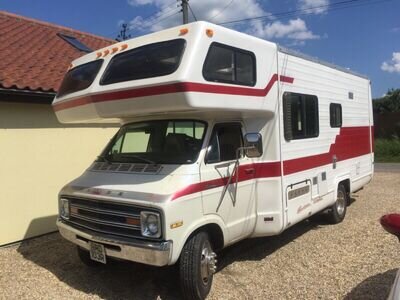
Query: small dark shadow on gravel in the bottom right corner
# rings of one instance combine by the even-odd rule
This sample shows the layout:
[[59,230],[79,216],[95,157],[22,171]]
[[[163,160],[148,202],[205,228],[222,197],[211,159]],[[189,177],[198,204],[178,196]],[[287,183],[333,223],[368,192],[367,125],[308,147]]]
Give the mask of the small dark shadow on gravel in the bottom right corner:
[[344,300],[378,300],[387,299],[396,278],[397,269],[368,277],[358,284]]

